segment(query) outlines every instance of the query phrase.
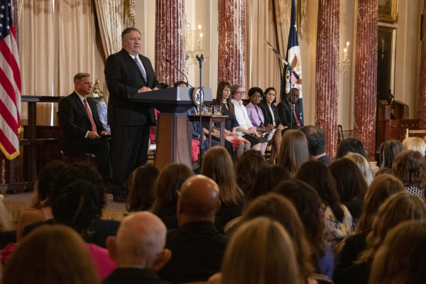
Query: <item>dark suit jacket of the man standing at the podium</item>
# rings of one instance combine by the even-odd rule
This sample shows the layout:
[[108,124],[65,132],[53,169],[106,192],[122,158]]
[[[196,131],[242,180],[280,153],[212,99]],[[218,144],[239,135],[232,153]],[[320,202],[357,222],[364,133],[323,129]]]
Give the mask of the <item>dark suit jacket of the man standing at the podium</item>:
[[[135,103],[127,99],[129,94],[135,94],[141,87],[160,89],[151,61],[139,55],[146,70],[146,79],[138,65],[123,48],[118,53],[109,55],[105,62],[105,80],[109,91],[108,124],[111,126],[143,126],[146,121],[155,124],[155,113],[149,111],[148,104]],[[149,118],[149,119],[148,119]]]

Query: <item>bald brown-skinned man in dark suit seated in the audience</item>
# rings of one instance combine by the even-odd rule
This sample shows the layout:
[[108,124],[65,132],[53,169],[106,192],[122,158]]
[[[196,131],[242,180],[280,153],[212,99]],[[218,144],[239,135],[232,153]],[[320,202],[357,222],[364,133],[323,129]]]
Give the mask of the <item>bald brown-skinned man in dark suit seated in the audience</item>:
[[220,204],[213,180],[195,175],[184,182],[178,199],[179,229],[168,231],[165,244],[172,258],[158,272],[160,278],[176,284],[205,282],[220,271],[229,241],[214,226]]

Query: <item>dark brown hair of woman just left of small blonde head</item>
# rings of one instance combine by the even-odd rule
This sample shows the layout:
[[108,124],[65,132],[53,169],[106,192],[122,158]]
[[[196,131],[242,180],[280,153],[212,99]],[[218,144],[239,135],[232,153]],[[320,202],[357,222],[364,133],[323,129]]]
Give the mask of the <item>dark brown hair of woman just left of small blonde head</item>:
[[354,161],[348,158],[340,158],[329,165],[329,170],[336,180],[340,202],[364,200],[368,185]]

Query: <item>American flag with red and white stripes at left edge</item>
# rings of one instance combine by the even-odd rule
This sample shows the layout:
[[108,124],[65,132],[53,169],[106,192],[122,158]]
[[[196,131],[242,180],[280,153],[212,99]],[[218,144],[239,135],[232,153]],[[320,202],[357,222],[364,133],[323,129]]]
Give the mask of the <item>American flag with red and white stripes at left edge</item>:
[[0,0],[0,148],[8,159],[19,155],[21,72],[11,0]]

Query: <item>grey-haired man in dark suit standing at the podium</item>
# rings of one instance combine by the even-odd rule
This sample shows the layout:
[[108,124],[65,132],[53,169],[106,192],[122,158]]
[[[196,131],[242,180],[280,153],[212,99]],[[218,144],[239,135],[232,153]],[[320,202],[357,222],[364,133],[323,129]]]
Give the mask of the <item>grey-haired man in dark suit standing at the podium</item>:
[[109,55],[105,80],[109,90],[108,124],[111,126],[111,159],[114,201],[126,202],[126,180],[148,155],[149,126],[155,124],[148,104],[127,99],[129,94],[160,88],[151,61],[141,51],[141,33],[126,28],[121,34],[123,49]]

